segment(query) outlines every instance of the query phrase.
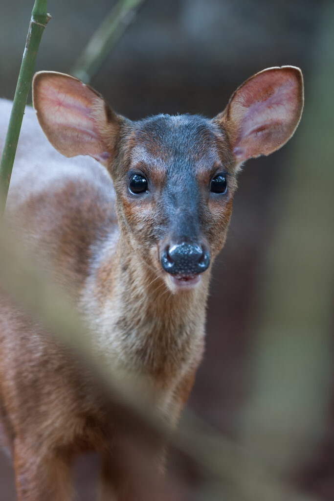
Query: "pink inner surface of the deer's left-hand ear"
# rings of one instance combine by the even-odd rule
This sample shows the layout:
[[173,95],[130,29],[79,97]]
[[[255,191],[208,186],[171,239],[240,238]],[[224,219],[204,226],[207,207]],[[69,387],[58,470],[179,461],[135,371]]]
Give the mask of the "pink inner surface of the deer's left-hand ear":
[[57,74],[42,78],[38,84],[38,117],[50,142],[61,153],[91,155],[102,162],[109,158],[94,114],[99,100],[102,98],[79,80]]

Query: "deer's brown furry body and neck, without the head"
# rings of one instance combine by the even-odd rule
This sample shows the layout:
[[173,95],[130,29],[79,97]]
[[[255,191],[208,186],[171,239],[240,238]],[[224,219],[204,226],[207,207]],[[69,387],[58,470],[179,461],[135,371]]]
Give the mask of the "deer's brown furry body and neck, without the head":
[[[8,112],[2,114],[5,122],[11,103],[2,104]],[[39,148],[39,158],[28,147],[30,141]],[[45,162],[45,158],[49,161]],[[152,272],[136,263],[127,242],[120,239],[110,176],[89,157],[76,160],[64,159],[54,150],[41,131],[34,110],[28,108],[11,181],[7,221],[46,267],[52,265],[53,276],[56,280],[60,277],[61,285],[71,292],[95,333],[97,352],[117,362],[119,371],[127,377],[132,370],[140,372],[139,367],[144,365],[151,376],[157,407],[175,420],[201,358],[206,291],[198,291],[195,302],[184,298],[181,309],[179,298],[171,296],[166,301],[165,289],[153,282]],[[135,283],[138,272],[140,287]],[[41,326],[7,301],[0,311],[0,416],[4,445],[11,451],[17,471],[21,471],[17,444],[20,439],[34,437],[33,450],[25,449],[22,453],[24,463],[36,455],[46,469],[45,458],[52,458],[53,487],[42,486],[40,498],[53,495],[52,489],[62,485],[54,495],[65,500],[70,495],[68,481],[58,475],[72,460],[69,447],[76,453],[91,449],[104,452],[112,440],[108,428],[112,427],[113,416],[106,419],[104,404],[89,374],[85,377],[82,368]],[[43,443],[42,449],[39,442]],[[54,447],[57,451],[64,449],[57,461],[52,457]],[[39,461],[36,462],[36,479],[31,471],[27,472],[32,494],[20,486],[18,476],[22,499],[38,499],[35,496],[41,489],[41,477]]]

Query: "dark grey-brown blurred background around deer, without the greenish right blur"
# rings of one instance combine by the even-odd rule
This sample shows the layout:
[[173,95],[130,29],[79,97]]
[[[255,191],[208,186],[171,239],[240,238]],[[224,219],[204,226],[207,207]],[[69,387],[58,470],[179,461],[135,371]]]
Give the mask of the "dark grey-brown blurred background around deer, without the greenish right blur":
[[[302,68],[306,109],[319,60],[328,54],[332,57],[330,51],[321,54],[318,44],[328,4],[319,0],[147,0],[91,85],[131,119],[160,112],[214,116],[243,80],[266,67],[290,64]],[[52,20],[43,35],[36,71],[70,73],[112,5],[107,0],[50,0]],[[33,2],[18,0],[2,0],[0,5],[0,97],[13,98],[32,7]],[[332,106],[332,96],[318,99],[327,99]],[[328,141],[330,132],[327,129]],[[298,129],[283,149],[245,165],[229,237],[215,264],[206,353],[189,404],[233,439],[242,435],[240,423],[251,394],[255,298],[265,280],[267,249],[280,221],[288,167],[300,158],[294,142],[301,147],[301,134]],[[332,298],[332,289],[330,293]],[[308,454],[284,472],[298,487],[328,501],[334,499],[331,401],[329,393]],[[195,499],[200,480],[185,458],[178,461],[180,499]],[[82,499],[94,498],[95,463],[95,458],[88,457],[77,467]],[[13,485],[10,463],[0,455],[1,501],[15,499]]]

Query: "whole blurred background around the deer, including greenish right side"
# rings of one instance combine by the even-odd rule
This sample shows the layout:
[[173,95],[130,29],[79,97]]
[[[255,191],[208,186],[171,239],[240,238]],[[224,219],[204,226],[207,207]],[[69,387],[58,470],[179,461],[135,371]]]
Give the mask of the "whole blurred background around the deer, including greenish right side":
[[[71,73],[114,4],[49,0],[36,71]],[[13,99],[32,7],[0,3],[0,97]],[[281,65],[303,71],[305,109],[293,139],[248,161],[239,176],[189,406],[250,461],[333,500],[334,3],[146,0],[128,21],[90,84],[131,119],[212,117],[252,74]],[[211,498],[187,457],[171,451],[168,469],[170,499]],[[242,481],[241,467],[239,474]],[[95,499],[97,459],[82,458],[75,475],[80,499]],[[0,500],[15,499],[0,452]]]

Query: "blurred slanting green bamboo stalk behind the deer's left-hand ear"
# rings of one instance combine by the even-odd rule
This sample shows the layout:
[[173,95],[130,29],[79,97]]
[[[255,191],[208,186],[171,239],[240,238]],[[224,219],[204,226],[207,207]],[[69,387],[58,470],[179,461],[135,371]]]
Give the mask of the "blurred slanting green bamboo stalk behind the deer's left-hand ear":
[[94,33],[71,70],[71,75],[88,84],[111,49],[133,22],[145,0],[119,0]]

